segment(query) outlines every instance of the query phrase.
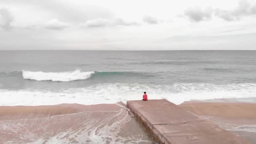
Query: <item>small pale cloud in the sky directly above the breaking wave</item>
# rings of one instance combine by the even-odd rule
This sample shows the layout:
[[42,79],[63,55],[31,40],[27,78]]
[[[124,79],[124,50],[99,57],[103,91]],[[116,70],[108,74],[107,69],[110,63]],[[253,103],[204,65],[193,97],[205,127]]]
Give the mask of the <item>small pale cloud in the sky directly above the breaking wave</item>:
[[52,19],[45,24],[46,29],[62,30],[69,27],[69,24],[59,21],[58,19]]

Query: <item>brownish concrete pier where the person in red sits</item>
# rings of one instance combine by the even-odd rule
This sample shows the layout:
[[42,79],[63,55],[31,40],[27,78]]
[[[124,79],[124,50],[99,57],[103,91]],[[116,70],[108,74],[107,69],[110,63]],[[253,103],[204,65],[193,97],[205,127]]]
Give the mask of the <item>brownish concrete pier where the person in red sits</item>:
[[163,144],[251,144],[165,99],[127,101],[127,107]]

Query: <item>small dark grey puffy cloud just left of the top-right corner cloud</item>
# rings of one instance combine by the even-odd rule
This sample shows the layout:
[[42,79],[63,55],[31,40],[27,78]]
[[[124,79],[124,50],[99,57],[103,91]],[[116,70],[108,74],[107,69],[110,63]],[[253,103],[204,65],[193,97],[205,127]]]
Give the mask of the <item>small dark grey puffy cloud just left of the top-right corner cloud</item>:
[[184,11],[184,16],[188,17],[191,21],[203,21],[211,19],[213,13],[212,8],[206,8],[202,10],[199,6],[187,8]]

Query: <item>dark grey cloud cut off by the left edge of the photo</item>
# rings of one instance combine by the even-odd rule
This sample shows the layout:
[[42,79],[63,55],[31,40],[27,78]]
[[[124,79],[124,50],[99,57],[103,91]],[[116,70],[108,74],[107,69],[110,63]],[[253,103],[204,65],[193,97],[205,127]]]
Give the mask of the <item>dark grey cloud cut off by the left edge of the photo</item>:
[[11,22],[14,17],[6,8],[0,9],[0,27],[3,29],[11,29]]

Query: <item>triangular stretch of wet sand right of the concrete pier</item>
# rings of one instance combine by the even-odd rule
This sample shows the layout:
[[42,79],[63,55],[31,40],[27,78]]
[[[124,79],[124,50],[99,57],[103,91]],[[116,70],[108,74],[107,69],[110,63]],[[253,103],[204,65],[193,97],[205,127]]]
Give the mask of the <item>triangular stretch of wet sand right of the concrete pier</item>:
[[179,107],[256,144],[255,103],[187,101]]

